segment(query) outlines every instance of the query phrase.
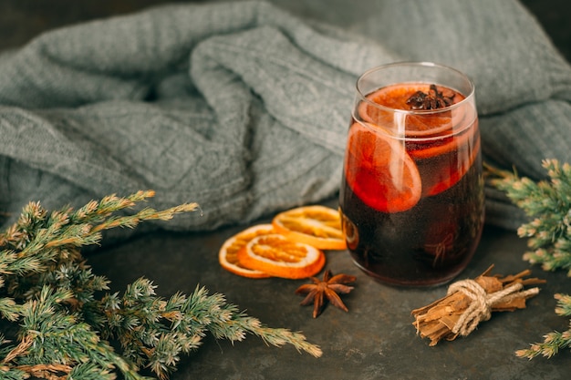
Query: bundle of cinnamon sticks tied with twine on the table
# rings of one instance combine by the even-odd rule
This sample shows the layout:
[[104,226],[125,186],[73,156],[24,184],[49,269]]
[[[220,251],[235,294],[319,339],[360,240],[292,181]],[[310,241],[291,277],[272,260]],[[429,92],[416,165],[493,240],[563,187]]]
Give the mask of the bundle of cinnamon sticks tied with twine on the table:
[[490,276],[493,265],[474,280],[453,282],[445,297],[415,309],[413,325],[420,337],[429,337],[431,346],[441,339],[454,340],[458,335],[471,334],[478,324],[492,317],[493,312],[524,309],[525,300],[539,293],[539,288],[524,289],[524,285],[545,283],[524,276],[529,270],[509,276]]

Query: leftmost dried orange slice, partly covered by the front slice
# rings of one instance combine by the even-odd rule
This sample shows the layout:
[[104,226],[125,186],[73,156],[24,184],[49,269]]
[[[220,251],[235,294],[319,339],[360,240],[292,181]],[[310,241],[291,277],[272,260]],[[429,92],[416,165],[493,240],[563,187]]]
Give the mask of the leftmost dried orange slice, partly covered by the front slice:
[[218,262],[228,271],[249,278],[266,278],[270,275],[266,272],[255,271],[245,268],[238,261],[238,251],[242,250],[246,244],[256,236],[274,233],[274,227],[271,224],[258,224],[244,231],[236,233],[234,236],[224,241],[220,251],[218,252]]

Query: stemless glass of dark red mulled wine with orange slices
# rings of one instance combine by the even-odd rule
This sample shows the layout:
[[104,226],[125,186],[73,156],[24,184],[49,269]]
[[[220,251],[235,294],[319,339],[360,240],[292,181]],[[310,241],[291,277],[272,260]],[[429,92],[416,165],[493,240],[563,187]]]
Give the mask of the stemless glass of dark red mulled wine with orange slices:
[[449,282],[480,241],[484,196],[472,81],[395,63],[357,82],[339,194],[348,251],[379,282]]

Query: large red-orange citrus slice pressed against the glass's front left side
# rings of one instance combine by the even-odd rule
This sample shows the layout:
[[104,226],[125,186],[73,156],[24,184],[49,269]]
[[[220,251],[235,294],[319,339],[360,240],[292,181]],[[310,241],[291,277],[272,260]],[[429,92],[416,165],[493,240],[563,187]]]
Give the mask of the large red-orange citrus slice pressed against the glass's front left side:
[[345,178],[358,198],[375,210],[410,210],[422,193],[419,169],[403,141],[375,128],[359,123],[349,128]]

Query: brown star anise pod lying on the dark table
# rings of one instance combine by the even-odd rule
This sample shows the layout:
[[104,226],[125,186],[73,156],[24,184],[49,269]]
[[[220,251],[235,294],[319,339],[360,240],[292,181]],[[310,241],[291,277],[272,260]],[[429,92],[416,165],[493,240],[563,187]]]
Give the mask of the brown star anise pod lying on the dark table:
[[347,294],[353,290],[352,286],[345,285],[349,282],[355,282],[357,277],[348,274],[337,274],[332,276],[331,271],[327,270],[323,274],[323,280],[316,277],[310,277],[313,283],[301,285],[296,290],[296,294],[307,294],[306,298],[300,303],[302,305],[309,304],[313,301],[313,317],[317,318],[323,311],[326,299],[339,309],[348,312],[348,308],[341,301],[337,293]]

